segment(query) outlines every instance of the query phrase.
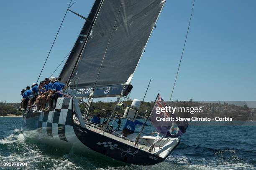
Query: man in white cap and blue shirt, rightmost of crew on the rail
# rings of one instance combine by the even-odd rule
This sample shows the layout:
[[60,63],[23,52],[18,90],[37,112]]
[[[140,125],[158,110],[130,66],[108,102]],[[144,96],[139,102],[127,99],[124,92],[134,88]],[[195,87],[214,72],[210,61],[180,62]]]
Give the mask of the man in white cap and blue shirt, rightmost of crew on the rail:
[[57,99],[62,96],[59,93],[59,91],[61,91],[62,89],[61,89],[61,86],[59,85],[58,80],[56,80],[55,77],[50,77],[49,79],[50,79],[53,86],[52,86],[51,92],[47,96],[47,101],[48,101],[49,108],[46,110],[46,112],[52,111],[53,110],[52,101],[53,100],[55,101],[55,106],[56,106]]

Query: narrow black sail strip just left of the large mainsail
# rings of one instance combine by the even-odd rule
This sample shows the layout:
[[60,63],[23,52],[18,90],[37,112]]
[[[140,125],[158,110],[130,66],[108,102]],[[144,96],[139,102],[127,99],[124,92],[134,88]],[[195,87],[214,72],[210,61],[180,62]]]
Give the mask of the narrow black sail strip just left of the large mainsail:
[[[101,2],[102,0],[95,0],[95,3],[92,6],[92,9],[90,11],[90,14],[88,15],[88,18],[87,18],[88,20],[92,22],[95,20],[97,12],[100,9]],[[77,38],[77,41],[75,42],[74,47],[70,52],[70,55],[59,75],[59,77],[61,77],[61,82],[63,83],[68,82],[69,77],[71,76],[74,70],[74,67],[77,64],[77,60],[81,55],[82,49],[87,40],[87,35],[90,32],[90,29],[92,28],[92,22],[85,21],[84,26]]]

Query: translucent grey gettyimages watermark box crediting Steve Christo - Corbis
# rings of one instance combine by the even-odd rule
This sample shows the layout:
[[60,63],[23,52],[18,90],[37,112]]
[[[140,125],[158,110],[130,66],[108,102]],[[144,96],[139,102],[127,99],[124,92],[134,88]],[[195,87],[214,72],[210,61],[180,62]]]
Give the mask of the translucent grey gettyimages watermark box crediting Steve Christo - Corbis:
[[154,120],[192,125],[256,125],[256,101],[166,101],[154,108]]

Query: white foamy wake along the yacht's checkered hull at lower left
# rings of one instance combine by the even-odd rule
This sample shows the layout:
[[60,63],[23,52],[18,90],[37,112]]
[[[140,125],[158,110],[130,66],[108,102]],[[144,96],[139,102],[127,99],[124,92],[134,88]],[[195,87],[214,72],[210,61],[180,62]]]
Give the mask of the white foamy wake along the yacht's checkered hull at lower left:
[[14,129],[8,137],[0,139],[0,162],[23,162],[27,163],[29,168],[42,170],[82,170],[124,165],[98,154],[97,157],[90,154],[79,155],[74,154],[73,151],[67,153],[49,145],[36,143],[26,139],[19,129]]

